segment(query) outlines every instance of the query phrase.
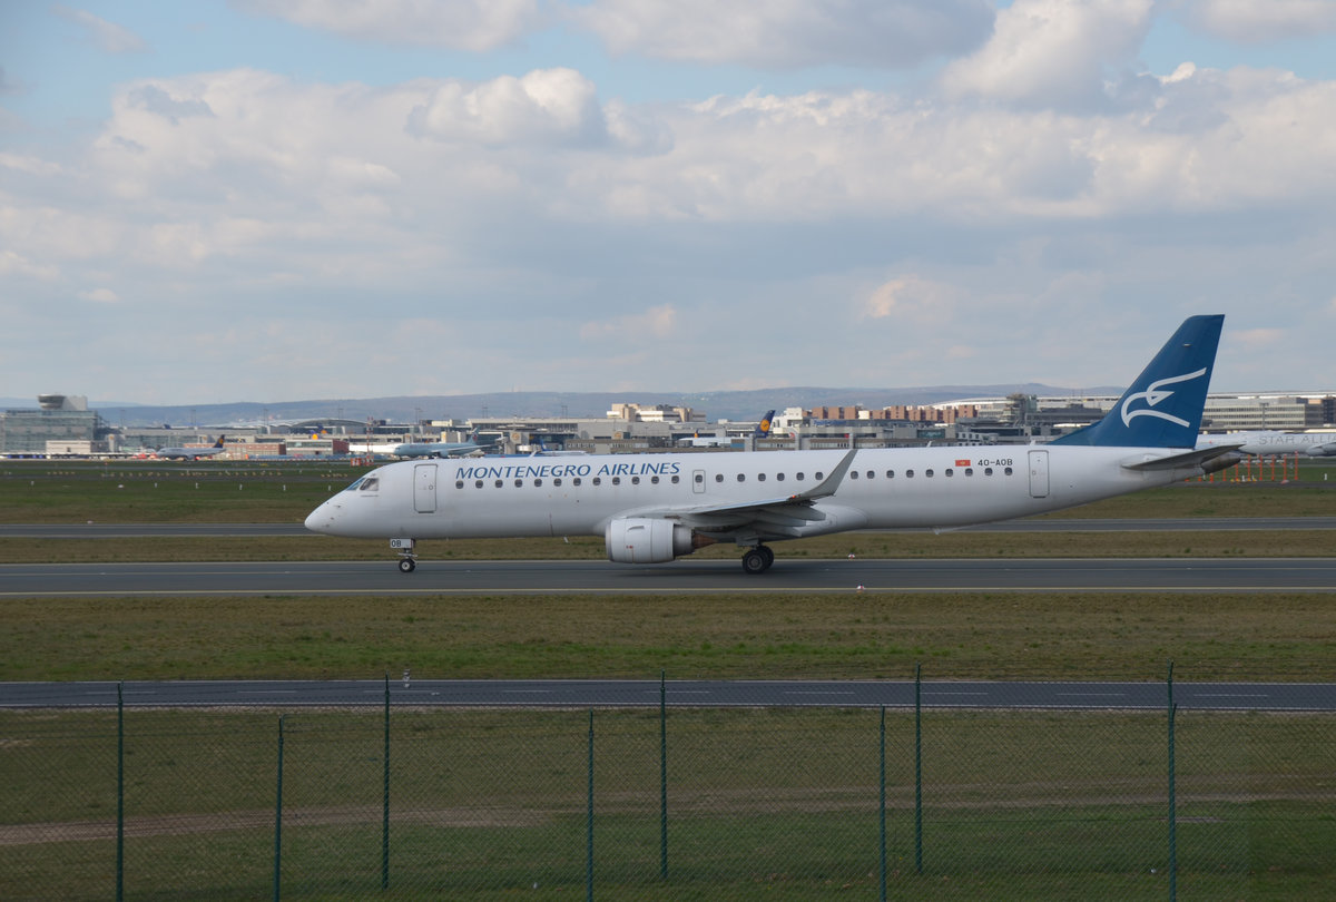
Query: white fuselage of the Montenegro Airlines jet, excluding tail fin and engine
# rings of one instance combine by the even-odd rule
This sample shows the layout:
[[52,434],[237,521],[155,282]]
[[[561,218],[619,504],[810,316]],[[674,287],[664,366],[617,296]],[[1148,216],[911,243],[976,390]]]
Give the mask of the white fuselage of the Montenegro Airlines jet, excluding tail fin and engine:
[[[306,525],[366,539],[603,536],[621,517],[689,522],[693,512],[707,508],[782,502],[819,485],[847,453],[403,461],[367,473],[314,510]],[[859,450],[834,494],[812,504],[819,517],[758,535],[778,540],[846,529],[963,527],[1070,508],[1200,472],[1124,466],[1170,453],[1106,446]]]

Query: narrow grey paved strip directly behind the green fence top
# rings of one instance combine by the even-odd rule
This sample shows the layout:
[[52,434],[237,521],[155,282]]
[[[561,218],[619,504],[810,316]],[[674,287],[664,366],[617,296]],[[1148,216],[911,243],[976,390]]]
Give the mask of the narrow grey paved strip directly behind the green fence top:
[[[663,691],[663,696],[660,696]],[[0,683],[0,708],[107,708],[116,683]],[[127,682],[126,707],[377,707],[382,680]],[[879,707],[912,708],[912,682],[402,680],[391,706],[488,708]],[[1165,683],[923,682],[923,707],[1166,711]],[[1336,684],[1174,683],[1181,711],[1336,711]]]

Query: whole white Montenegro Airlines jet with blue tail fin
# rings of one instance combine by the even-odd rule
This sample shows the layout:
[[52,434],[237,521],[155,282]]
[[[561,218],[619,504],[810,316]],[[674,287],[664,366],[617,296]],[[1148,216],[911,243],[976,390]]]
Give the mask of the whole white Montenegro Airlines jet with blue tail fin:
[[715,543],[743,549],[848,529],[951,529],[1071,508],[1230,466],[1196,449],[1224,315],[1188,318],[1102,420],[1047,445],[870,448],[570,460],[402,461],[306,518],[389,539],[405,573],[418,540],[603,536],[608,559],[663,564]]

